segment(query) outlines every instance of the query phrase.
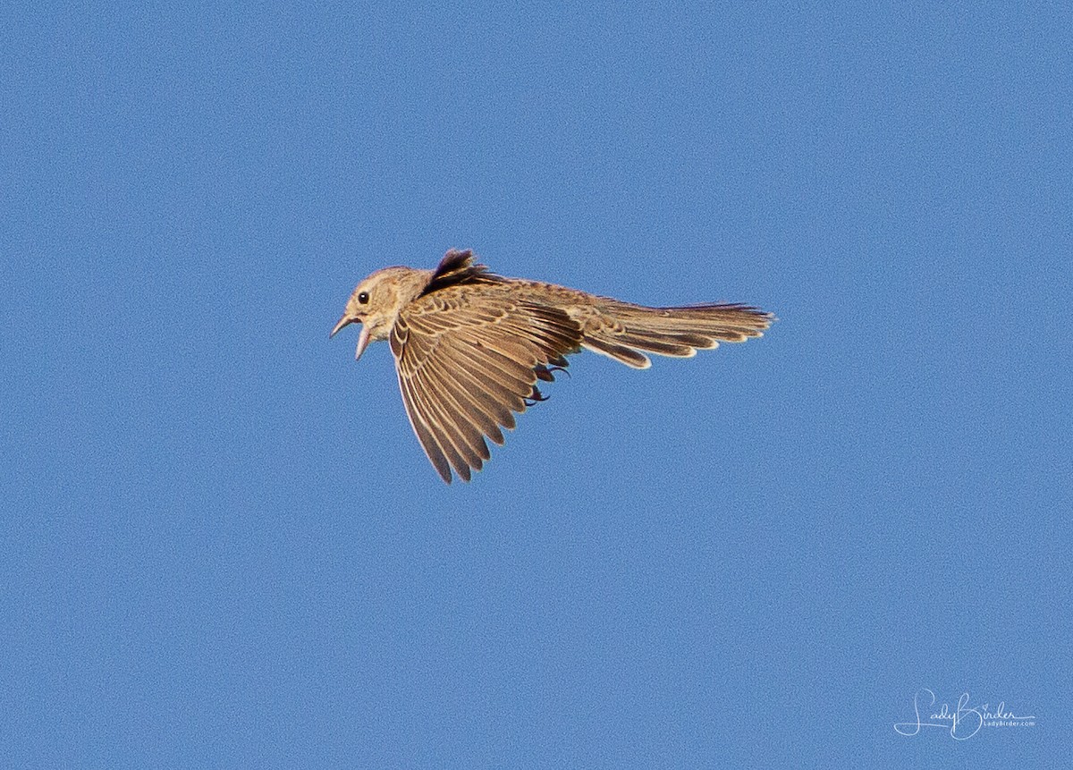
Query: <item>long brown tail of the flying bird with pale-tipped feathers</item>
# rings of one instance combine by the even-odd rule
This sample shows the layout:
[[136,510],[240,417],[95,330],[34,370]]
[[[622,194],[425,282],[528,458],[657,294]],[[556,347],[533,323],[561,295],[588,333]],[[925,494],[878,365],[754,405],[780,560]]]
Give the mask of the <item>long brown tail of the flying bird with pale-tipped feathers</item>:
[[646,308],[615,301],[601,311],[611,323],[586,328],[582,344],[634,369],[651,366],[646,353],[687,358],[720,342],[761,337],[775,321],[770,313],[745,305]]

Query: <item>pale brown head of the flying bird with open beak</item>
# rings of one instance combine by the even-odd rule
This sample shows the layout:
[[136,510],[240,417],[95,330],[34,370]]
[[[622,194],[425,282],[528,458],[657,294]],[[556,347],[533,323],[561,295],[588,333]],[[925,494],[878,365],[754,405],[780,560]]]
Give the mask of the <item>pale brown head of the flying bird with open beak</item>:
[[328,337],[335,337],[344,326],[362,324],[362,334],[358,335],[357,350],[354,353],[354,359],[357,360],[370,342],[386,340],[391,336],[399,313],[421,295],[430,277],[430,270],[414,270],[409,267],[377,270],[354,288],[347,300],[342,317]]

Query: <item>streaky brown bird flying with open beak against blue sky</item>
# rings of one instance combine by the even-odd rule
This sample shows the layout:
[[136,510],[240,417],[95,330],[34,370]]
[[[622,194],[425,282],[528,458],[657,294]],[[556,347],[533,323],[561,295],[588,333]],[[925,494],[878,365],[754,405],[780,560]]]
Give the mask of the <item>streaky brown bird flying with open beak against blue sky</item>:
[[647,308],[554,283],[504,278],[452,249],[435,270],[386,267],[354,290],[332,329],[362,324],[354,358],[391,340],[402,402],[444,482],[465,480],[503,443],[514,414],[544,397],[567,356],[583,347],[635,369],[646,353],[689,357],[760,337],[775,317],[744,305]]

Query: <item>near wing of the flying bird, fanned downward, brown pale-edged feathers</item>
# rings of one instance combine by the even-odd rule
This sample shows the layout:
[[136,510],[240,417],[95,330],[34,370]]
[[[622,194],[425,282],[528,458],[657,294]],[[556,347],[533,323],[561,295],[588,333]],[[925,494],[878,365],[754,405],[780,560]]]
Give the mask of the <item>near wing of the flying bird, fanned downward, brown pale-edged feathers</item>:
[[[517,296],[515,296],[517,295]],[[410,425],[447,484],[465,480],[488,459],[485,436],[500,428],[547,380],[549,365],[579,349],[577,323],[562,310],[508,286],[456,286],[411,302],[392,329],[392,352]]]

